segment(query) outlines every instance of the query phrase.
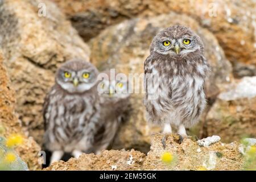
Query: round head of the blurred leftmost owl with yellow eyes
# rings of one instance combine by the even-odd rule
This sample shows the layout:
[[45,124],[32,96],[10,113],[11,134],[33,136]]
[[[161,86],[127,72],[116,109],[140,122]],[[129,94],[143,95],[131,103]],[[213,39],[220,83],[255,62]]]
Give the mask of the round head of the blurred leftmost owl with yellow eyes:
[[55,81],[69,93],[83,93],[97,84],[98,71],[85,60],[70,60],[57,70]]

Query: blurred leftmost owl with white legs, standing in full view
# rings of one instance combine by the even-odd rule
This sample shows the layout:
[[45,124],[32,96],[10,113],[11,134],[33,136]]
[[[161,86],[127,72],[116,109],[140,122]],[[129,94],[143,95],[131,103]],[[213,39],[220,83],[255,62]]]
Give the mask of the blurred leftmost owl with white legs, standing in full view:
[[79,59],[57,70],[43,106],[44,147],[52,152],[50,163],[60,160],[64,152],[77,158],[92,148],[100,126],[97,76],[92,64]]

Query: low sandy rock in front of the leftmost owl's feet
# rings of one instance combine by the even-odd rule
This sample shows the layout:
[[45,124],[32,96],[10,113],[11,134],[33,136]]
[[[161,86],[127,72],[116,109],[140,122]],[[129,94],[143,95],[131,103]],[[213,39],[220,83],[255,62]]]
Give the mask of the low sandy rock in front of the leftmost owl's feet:
[[103,151],[100,155],[82,154],[79,159],[71,158],[68,162],[55,162],[46,171],[110,171],[110,170],[139,170],[142,168],[145,155],[139,151]]

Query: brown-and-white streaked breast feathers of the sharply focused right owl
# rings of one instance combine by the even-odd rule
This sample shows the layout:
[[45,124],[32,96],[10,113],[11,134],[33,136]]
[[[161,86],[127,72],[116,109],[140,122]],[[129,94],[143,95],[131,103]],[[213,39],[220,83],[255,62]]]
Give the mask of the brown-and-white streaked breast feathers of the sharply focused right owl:
[[[199,54],[171,57],[151,53],[144,62],[145,105],[149,119],[163,121],[176,117],[191,125],[205,106],[203,85],[208,72],[209,65]],[[158,80],[154,75],[158,75]],[[152,88],[157,97],[150,100],[148,94],[152,94]]]

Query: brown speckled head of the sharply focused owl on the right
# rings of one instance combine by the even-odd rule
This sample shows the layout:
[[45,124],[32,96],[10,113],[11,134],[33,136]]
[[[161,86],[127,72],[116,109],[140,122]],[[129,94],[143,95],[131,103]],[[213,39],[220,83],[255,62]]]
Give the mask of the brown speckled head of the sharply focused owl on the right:
[[203,53],[203,42],[190,28],[180,25],[160,31],[150,46],[150,52],[158,52],[163,55],[183,56],[195,51]]

